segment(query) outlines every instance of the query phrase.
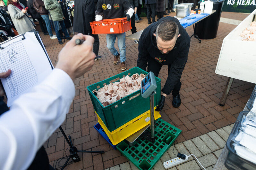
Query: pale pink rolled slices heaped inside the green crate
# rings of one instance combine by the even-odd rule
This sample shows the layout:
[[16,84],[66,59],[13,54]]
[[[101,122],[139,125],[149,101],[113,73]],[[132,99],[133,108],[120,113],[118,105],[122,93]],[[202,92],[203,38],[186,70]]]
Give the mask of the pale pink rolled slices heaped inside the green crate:
[[[108,106],[109,104],[115,103],[116,101],[120,100],[123,97],[126,97],[138,90],[141,89],[141,81],[146,76],[144,74],[133,74],[131,77],[126,75],[125,77],[121,78],[119,81],[114,83],[110,83],[105,85],[100,89],[95,89],[92,93],[98,98],[99,102],[104,106]],[[139,94],[130,97],[135,98],[139,96]],[[124,103],[124,101],[123,101]]]

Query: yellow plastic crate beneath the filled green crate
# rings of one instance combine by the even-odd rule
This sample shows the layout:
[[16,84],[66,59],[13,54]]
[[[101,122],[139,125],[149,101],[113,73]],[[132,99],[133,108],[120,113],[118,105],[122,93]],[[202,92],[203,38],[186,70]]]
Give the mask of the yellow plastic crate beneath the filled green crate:
[[[140,116],[136,117],[135,119],[125,123],[123,126],[115,129],[112,132],[109,132],[107,127],[104,125],[103,121],[98,116],[97,112],[95,113],[98,117],[98,122],[100,126],[106,132],[107,136],[109,137],[113,145],[116,145],[122,142],[124,139],[126,139],[130,135],[134,134],[135,132],[139,131],[140,129],[150,124],[150,113],[148,110],[147,112],[142,113]],[[155,120],[157,120],[160,117],[161,117],[160,112],[155,111]]]

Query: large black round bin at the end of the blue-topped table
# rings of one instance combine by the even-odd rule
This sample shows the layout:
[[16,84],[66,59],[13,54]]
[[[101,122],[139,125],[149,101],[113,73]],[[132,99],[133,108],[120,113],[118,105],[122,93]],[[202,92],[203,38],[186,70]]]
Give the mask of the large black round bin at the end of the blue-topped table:
[[[224,0],[218,2],[216,0],[211,1],[213,1],[212,10],[216,10],[216,12],[195,24],[194,34],[200,39],[213,39],[217,36]],[[200,3],[198,2],[198,6],[200,6]]]

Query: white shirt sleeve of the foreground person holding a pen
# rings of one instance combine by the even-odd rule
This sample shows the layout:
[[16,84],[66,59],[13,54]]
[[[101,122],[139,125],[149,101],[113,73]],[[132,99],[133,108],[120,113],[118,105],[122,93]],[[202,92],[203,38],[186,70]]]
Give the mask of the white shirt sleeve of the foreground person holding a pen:
[[0,117],[0,169],[27,169],[38,149],[65,120],[74,96],[72,79],[54,69],[15,100]]

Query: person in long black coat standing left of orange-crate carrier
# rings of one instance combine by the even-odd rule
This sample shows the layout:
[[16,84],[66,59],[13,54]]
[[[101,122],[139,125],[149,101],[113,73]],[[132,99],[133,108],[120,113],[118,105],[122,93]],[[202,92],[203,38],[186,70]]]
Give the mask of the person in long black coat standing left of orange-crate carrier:
[[75,0],[73,29],[75,32],[93,36],[93,52],[96,54],[94,61],[96,61],[102,57],[98,55],[99,36],[92,34],[90,26],[92,21],[95,21],[94,0]]

